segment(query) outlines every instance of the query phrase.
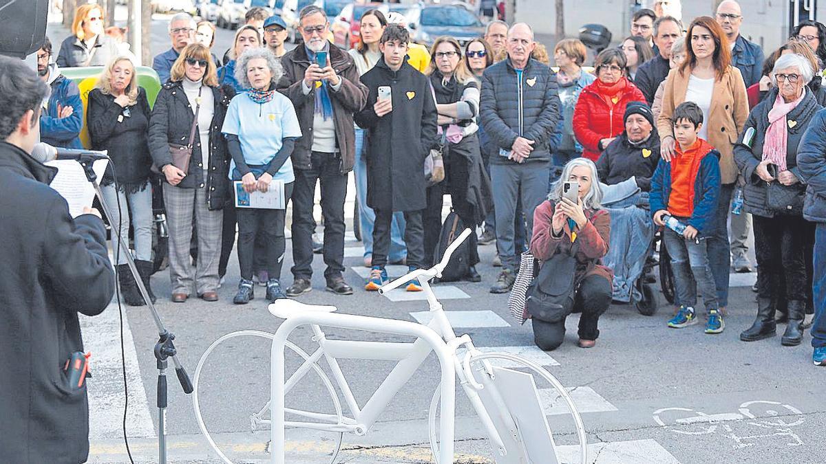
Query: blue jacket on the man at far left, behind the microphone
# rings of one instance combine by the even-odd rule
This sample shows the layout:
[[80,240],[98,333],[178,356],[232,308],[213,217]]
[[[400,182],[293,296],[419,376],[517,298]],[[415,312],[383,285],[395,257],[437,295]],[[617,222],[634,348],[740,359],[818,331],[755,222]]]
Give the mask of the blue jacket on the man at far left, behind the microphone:
[[[54,64],[49,67],[49,72],[60,73]],[[40,113],[40,141],[55,147],[83,148],[78,139],[83,128],[83,101],[80,99],[78,84],[58,75],[50,83],[50,87],[49,103],[46,110]],[[72,107],[74,112],[69,117],[60,118],[58,107]]]

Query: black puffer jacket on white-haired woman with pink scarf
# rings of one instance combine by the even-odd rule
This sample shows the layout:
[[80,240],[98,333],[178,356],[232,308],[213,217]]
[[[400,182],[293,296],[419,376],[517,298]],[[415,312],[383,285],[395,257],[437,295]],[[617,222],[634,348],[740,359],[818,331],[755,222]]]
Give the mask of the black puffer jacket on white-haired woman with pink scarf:
[[[773,88],[762,102],[757,103],[757,106],[752,108],[746,125],[743,126],[743,134],[740,134],[737,144],[734,145],[734,162],[737,163],[740,174],[746,181],[743,187],[743,201],[746,205],[746,211],[763,217],[774,217],[777,214],[766,206],[767,183],[755,172],[757,164],[763,159],[763,140],[766,138],[766,130],[769,127],[768,114],[771,107],[774,106],[776,97],[777,89]],[[786,125],[788,137],[786,141],[786,168],[800,180],[795,184],[796,188],[800,190],[800,196],[805,195],[805,184],[800,169],[797,167],[798,145],[806,128],[809,127],[809,121],[812,120],[814,113],[819,111],[820,108],[821,106],[815,100],[814,94],[809,88],[806,88],[803,101],[798,103],[797,107],[786,115],[786,121],[788,121]],[[793,127],[789,127],[791,121],[795,121]],[[749,128],[754,128],[751,147],[743,143],[743,137]]]

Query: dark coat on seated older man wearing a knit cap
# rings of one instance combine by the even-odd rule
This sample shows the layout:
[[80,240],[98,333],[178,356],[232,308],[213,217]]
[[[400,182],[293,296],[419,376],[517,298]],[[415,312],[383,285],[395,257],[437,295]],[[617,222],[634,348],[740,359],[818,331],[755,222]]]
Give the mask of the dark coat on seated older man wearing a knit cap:
[[623,132],[605,147],[600,159],[596,160],[596,172],[600,180],[608,185],[628,180],[635,176],[637,187],[643,192],[651,190],[651,176],[660,160],[660,137],[657,130],[651,131],[648,140],[634,146]]

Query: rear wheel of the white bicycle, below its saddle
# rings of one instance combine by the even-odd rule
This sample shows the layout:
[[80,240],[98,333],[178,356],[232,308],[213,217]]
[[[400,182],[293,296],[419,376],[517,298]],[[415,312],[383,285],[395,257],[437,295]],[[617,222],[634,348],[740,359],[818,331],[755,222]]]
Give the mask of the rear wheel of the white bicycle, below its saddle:
[[[192,377],[192,405],[195,409],[195,416],[196,416],[196,419],[197,419],[197,422],[198,422],[198,427],[201,428],[201,432],[204,434],[204,438],[207,438],[207,442],[209,443],[212,450],[215,451],[216,454],[219,457],[221,457],[221,460],[223,460],[227,464],[232,464],[232,461],[230,461],[230,458],[226,457],[224,452],[221,451],[221,448],[219,448],[217,446],[217,444],[215,443],[215,440],[212,438],[211,434],[207,430],[207,424],[204,423],[204,419],[203,419],[202,411],[201,411],[200,395],[199,395],[199,391],[198,391],[198,386],[199,386],[199,382],[200,382],[200,379],[201,379],[202,369],[203,369],[204,364],[207,361],[207,357],[209,357],[210,353],[212,353],[212,351],[218,345],[225,342],[226,340],[234,339],[236,337],[243,337],[243,336],[260,337],[260,338],[263,338],[263,339],[268,339],[270,341],[272,341],[273,338],[274,338],[274,334],[269,334],[268,332],[262,332],[262,331],[259,331],[259,330],[239,330],[239,331],[236,331],[236,332],[230,332],[230,334],[225,334],[221,338],[216,339],[215,342],[212,342],[212,344],[209,346],[209,348],[207,348],[207,351],[205,351],[202,354],[201,359],[198,361],[198,365],[195,369],[195,376]],[[307,354],[304,350],[299,348],[294,343],[287,342],[286,346],[287,346],[287,348],[289,348],[290,351],[292,351],[292,353],[297,354],[298,357],[301,358],[301,362],[305,362],[310,358],[309,354]],[[308,367],[306,367],[306,372],[309,372],[309,370],[312,370],[313,372],[316,372],[316,375],[319,377],[320,381],[325,386],[325,389],[326,389],[327,393],[330,395],[331,402],[332,402],[333,407],[335,409],[335,416],[337,418],[337,424],[343,424],[344,423],[344,414],[343,414],[343,411],[341,409],[341,403],[339,402],[338,394],[336,393],[335,387],[333,386],[332,382],[330,381],[330,378],[327,377],[325,372],[323,370],[321,370],[321,368],[315,362],[311,363]],[[300,381],[301,379],[303,379],[303,376],[306,375],[306,372],[304,372],[304,374],[302,374],[300,376],[300,378],[297,378],[297,381]],[[290,377],[291,377],[290,375],[287,375],[285,378],[289,379]],[[289,382],[289,381],[287,381],[287,382]],[[317,400],[317,397],[316,397],[316,400]],[[257,413],[250,414],[250,427],[252,428],[252,431],[255,431],[257,428],[260,427],[260,425],[270,424],[269,419],[263,419],[263,415],[268,410],[269,410],[269,401],[267,401],[266,405],[264,405],[263,408],[261,410],[259,410]],[[297,410],[297,409],[292,409],[292,408],[287,407],[285,417],[287,418],[287,420],[291,420],[293,417],[307,417],[308,414],[311,415],[311,414],[319,414],[319,413],[313,413],[311,411]],[[330,435],[332,435],[332,438],[330,438]],[[294,439],[295,438],[294,434],[288,434],[287,435],[287,440],[288,441],[286,443],[287,446],[285,446],[285,447],[287,447],[290,450],[289,452],[294,453],[295,456],[287,456],[287,462],[325,462],[323,460],[320,460],[320,458],[318,457],[319,455],[321,455],[322,457],[325,457],[324,459],[326,459],[326,456],[330,456],[330,461],[329,462],[330,462],[330,464],[333,464],[335,462],[335,458],[339,454],[339,450],[341,449],[341,441],[342,441],[343,435],[344,435],[344,433],[341,433],[341,432],[335,432],[335,433],[326,432],[325,436],[313,437],[312,442],[310,442],[309,440],[295,440]],[[308,446],[308,443],[311,443],[312,446]],[[321,444],[321,446],[319,446],[319,444]],[[323,449],[321,447],[323,447]],[[328,448],[329,448],[329,451],[328,451]],[[315,456],[314,457],[306,456],[306,454],[308,454],[308,453],[313,453]],[[298,456],[298,455],[303,455],[303,456]]]

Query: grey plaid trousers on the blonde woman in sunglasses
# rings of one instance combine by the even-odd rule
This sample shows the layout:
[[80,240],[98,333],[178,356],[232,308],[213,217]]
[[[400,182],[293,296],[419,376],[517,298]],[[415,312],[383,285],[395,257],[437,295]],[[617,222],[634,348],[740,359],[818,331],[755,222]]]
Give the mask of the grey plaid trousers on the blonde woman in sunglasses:
[[[206,174],[204,176],[206,178]],[[192,292],[192,215],[198,239],[198,260],[194,269],[197,295],[218,289],[218,261],[221,258],[223,211],[210,211],[207,189],[173,187],[164,183],[166,222],[169,225],[169,279],[173,293]]]

